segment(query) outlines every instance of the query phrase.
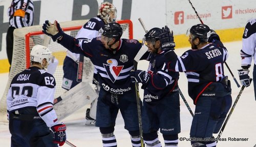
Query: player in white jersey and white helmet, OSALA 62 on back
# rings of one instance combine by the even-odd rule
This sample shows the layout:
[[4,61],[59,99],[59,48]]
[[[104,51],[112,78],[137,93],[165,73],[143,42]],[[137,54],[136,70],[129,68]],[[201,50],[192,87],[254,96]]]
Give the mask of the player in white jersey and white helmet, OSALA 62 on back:
[[35,45],[30,57],[32,66],[13,78],[7,95],[11,146],[62,146],[66,125],[58,122],[53,109],[55,79],[44,70],[52,52]]

